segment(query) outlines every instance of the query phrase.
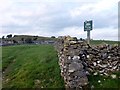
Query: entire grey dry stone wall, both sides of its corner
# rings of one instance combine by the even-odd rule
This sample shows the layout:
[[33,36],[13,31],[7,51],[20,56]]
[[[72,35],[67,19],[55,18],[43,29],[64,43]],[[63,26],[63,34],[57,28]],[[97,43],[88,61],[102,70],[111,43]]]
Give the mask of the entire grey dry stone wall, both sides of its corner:
[[90,46],[70,36],[59,37],[55,45],[58,51],[61,76],[66,88],[84,88],[87,76],[112,76],[120,71],[120,47],[118,45]]

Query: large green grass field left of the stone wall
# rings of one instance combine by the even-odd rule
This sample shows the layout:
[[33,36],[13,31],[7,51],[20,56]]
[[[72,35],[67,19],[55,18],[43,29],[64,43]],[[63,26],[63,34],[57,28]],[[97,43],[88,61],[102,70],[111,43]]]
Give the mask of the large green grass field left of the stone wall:
[[2,49],[3,88],[64,88],[53,46],[21,45]]

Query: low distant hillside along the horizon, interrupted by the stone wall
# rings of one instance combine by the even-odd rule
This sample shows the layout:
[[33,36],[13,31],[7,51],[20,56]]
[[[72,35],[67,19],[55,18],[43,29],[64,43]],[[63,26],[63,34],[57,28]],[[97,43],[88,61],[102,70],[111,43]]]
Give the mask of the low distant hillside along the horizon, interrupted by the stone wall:
[[[1,39],[1,38],[0,38]],[[57,40],[54,36],[51,37],[43,37],[43,36],[32,36],[32,35],[14,35],[11,38],[4,38],[3,41],[25,41],[25,40],[31,40],[31,41],[51,41],[51,40]],[[119,44],[120,41],[110,41],[110,40],[91,40],[91,45],[99,45],[99,44]]]

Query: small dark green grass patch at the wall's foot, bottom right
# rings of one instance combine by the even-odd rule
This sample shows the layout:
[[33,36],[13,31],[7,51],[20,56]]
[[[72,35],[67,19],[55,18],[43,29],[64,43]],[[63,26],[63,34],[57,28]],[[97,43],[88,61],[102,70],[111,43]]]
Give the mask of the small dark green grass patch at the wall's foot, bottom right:
[[[114,73],[117,76],[120,76],[120,72]],[[90,81],[90,86],[94,86],[94,88],[120,88],[120,79],[112,79],[111,77],[100,76],[100,75],[91,75],[88,77]],[[100,80],[100,82],[98,82]]]

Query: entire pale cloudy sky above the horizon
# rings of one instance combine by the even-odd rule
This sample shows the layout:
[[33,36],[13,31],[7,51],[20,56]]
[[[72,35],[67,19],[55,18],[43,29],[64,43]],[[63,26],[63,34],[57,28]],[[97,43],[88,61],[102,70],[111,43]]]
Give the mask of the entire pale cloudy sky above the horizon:
[[93,20],[92,39],[118,40],[119,0],[0,0],[0,37],[12,35],[86,38],[84,21]]

